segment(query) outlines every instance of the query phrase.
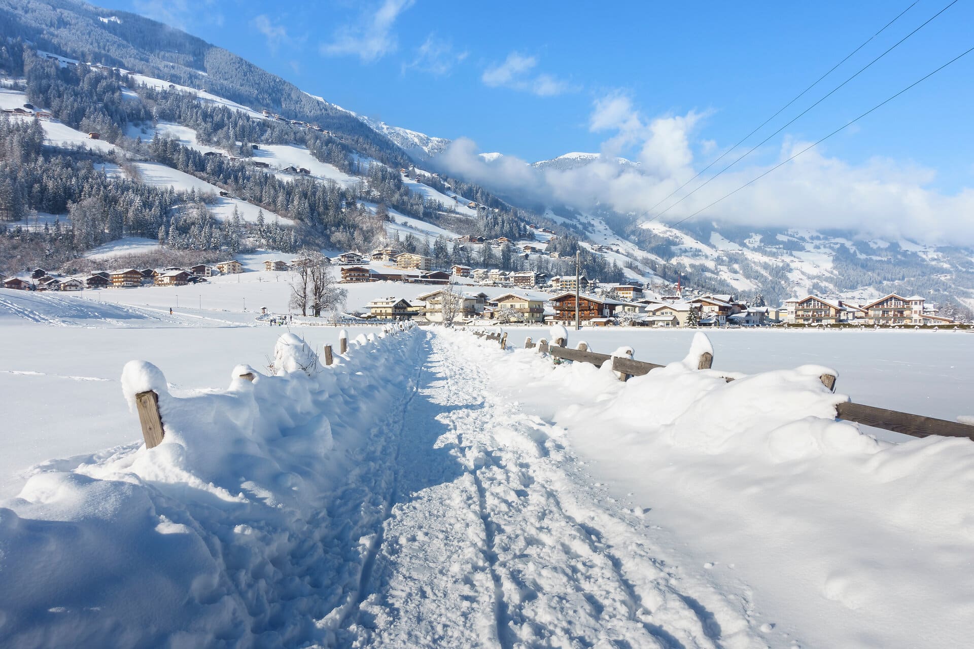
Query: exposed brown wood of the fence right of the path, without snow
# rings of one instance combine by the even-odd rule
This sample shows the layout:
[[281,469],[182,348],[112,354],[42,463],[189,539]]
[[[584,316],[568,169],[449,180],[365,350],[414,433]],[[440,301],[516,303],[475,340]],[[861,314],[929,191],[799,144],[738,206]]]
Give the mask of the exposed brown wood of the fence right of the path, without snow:
[[[483,336],[483,334],[477,335]],[[564,346],[567,341],[562,341],[561,339],[557,342],[561,344],[549,346],[544,339],[541,339],[538,343],[534,343],[528,338],[524,342],[524,348],[538,349],[539,353],[548,354],[560,360],[590,363],[595,367],[602,367],[606,362],[611,361],[613,371],[617,372],[619,378],[622,380],[625,380],[627,377],[641,377],[649,374],[652,370],[665,367],[656,363],[636,361],[631,358],[612,356],[611,354],[600,354],[587,349],[572,349]],[[700,354],[697,369],[709,370],[713,365],[713,361],[713,354],[705,351]],[[830,391],[836,391],[835,376],[823,374],[819,379]],[[726,377],[725,380],[731,382],[733,378]],[[941,435],[944,437],[966,437],[974,441],[974,425],[971,424],[950,421],[948,419],[938,419],[931,416],[913,415],[886,408],[877,408],[876,406],[857,404],[851,401],[846,401],[836,406],[836,418],[860,423],[864,426],[873,426],[874,428],[881,428],[895,433],[911,435],[913,437]]]

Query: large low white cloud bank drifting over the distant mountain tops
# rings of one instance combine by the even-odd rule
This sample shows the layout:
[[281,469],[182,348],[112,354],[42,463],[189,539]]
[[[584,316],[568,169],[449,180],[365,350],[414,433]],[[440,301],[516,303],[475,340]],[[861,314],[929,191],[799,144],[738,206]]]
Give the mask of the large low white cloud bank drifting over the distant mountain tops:
[[[619,165],[613,155],[603,155],[578,168],[540,169],[510,156],[484,160],[469,140],[457,140],[438,160],[448,170],[500,191],[580,209],[609,206],[646,217],[651,206],[708,162],[693,159],[694,147],[706,142],[695,134],[701,117],[691,111],[646,119],[631,99],[618,93],[596,101],[589,126],[607,133],[603,154],[622,150],[619,143],[625,142],[625,150],[637,152],[638,167]],[[807,145],[786,139],[776,160],[735,167],[659,221],[673,223],[693,214]],[[695,218],[755,228],[841,229],[893,240],[906,237],[924,243],[974,244],[974,221],[958,218],[974,213],[974,189],[945,195],[930,189],[935,179],[935,170],[909,162],[877,158],[851,164],[816,148]],[[698,183],[665,200],[659,209],[685,196]]]

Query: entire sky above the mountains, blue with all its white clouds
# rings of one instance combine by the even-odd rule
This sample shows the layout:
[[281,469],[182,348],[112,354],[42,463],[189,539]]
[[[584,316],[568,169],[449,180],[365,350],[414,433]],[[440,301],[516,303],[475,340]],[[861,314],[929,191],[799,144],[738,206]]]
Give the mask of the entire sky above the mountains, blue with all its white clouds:
[[[650,205],[900,12],[910,7],[738,151],[950,2],[103,4],[186,29],[358,113],[462,138],[445,163],[469,179],[652,213]],[[974,47],[972,24],[974,4],[959,0],[667,218],[731,192]],[[708,214],[974,242],[972,80],[969,54]],[[485,165],[476,156],[495,151],[507,160]],[[638,160],[650,180],[612,177],[610,169],[524,172],[522,161],[571,151]]]

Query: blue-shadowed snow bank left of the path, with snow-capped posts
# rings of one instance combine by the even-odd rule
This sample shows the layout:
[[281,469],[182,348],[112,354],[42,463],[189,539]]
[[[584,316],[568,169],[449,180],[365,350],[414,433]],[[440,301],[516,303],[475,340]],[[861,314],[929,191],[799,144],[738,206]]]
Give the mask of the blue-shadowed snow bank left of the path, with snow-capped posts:
[[228,389],[188,396],[127,364],[126,398],[158,393],[165,438],[39,473],[0,503],[5,643],[333,645],[369,553],[359,539],[385,512],[392,451],[371,431],[396,425],[420,339],[308,374],[310,347],[286,334],[278,376],[242,365]]

